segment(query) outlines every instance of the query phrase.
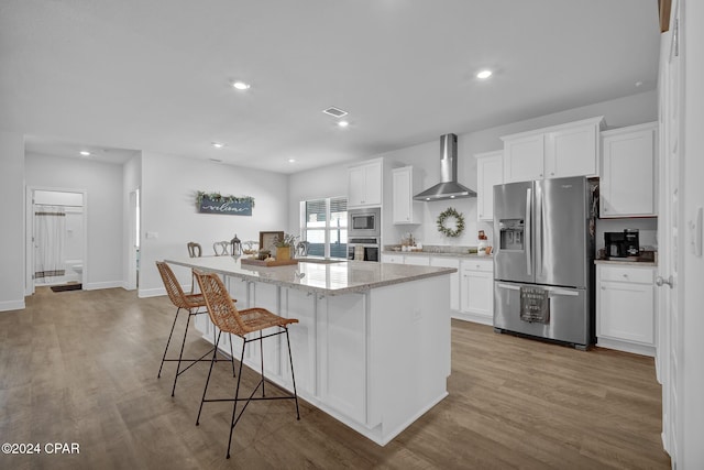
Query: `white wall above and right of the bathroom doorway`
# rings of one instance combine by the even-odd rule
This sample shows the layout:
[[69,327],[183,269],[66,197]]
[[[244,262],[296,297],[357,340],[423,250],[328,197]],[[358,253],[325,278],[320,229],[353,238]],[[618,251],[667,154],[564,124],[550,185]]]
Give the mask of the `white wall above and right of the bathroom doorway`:
[[28,154],[26,185],[86,192],[87,253],[84,288],[121,287],[122,276],[122,166]]

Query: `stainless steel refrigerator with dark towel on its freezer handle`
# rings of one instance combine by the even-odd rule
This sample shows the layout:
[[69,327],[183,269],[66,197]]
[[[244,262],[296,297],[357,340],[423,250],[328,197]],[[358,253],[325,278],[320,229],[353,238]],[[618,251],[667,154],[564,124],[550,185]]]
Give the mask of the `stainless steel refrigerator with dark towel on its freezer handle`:
[[494,329],[594,341],[594,192],[584,177],[494,186]]

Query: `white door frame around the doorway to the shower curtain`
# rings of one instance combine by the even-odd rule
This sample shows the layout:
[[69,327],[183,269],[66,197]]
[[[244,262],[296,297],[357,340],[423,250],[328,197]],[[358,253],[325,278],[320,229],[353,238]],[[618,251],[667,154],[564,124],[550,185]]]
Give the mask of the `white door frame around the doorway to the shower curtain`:
[[82,195],[84,199],[84,242],[81,259],[84,269],[81,273],[80,282],[86,286],[86,280],[88,278],[88,192],[86,189],[64,188],[64,187],[50,187],[50,186],[26,186],[25,192],[25,212],[24,212],[24,295],[34,294],[34,192],[46,190],[55,193],[78,193]]

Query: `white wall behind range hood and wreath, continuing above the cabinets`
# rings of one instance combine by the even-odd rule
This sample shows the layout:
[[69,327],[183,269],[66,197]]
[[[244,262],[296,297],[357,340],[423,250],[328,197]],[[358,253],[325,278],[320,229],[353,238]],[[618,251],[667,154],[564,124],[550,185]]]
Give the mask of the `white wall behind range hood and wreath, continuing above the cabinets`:
[[[477,132],[460,133],[458,134],[458,179],[463,185],[476,189],[476,160],[474,155],[503,149],[502,135],[579,121],[595,116],[604,116],[609,128],[656,121],[658,119],[657,92],[647,91]],[[458,130],[448,129],[448,132],[457,133]],[[440,181],[440,135],[431,142],[369,156],[369,159],[373,157],[384,157],[391,167],[413,165],[414,172],[419,172],[421,175],[422,184],[418,190],[426,189]],[[300,200],[343,194],[342,192],[346,188],[346,166],[344,164],[336,165],[293,175],[289,181],[288,208],[290,214],[297,214]],[[384,214],[382,217],[384,219],[384,238],[382,240],[384,244],[398,243],[400,237],[408,231],[425,244],[476,245],[479,243],[477,230],[485,230],[491,240],[491,225],[476,220],[475,198],[425,203],[424,225],[420,227],[394,226],[391,222],[391,174],[387,174],[384,179]],[[454,239],[443,237],[436,225],[440,212],[448,207],[454,207],[464,215],[465,231],[461,237]],[[297,228],[297,220],[292,222],[295,222]]]

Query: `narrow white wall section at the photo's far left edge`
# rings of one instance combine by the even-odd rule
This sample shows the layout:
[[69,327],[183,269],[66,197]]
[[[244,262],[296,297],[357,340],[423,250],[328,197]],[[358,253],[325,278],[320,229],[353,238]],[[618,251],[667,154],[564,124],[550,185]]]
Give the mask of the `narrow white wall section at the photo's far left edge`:
[[24,138],[0,131],[0,311],[24,308]]

